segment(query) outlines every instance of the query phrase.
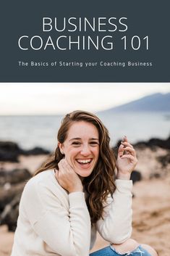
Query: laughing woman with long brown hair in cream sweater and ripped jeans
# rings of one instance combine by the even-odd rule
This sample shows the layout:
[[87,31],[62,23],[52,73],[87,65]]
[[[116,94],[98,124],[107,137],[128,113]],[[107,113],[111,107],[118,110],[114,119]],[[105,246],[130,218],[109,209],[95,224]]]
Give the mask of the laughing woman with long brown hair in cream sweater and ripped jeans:
[[55,154],[22,193],[12,256],[88,256],[96,231],[110,246],[90,256],[157,256],[130,239],[135,149],[124,137],[116,159],[109,142],[92,113],[64,117]]

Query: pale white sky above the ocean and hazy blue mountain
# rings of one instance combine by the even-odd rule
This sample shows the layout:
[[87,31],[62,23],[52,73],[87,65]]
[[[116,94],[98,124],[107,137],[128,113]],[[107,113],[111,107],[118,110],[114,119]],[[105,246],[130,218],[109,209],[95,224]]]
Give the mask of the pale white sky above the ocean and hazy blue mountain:
[[170,83],[1,83],[0,115],[98,112],[158,92],[170,92]]

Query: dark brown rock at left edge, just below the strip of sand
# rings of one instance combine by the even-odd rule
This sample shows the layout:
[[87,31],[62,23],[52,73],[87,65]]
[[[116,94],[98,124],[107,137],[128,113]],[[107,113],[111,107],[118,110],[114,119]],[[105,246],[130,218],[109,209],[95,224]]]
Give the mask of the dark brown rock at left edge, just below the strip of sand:
[[29,178],[31,178],[31,174],[27,169],[0,170],[0,185],[20,183],[27,181]]

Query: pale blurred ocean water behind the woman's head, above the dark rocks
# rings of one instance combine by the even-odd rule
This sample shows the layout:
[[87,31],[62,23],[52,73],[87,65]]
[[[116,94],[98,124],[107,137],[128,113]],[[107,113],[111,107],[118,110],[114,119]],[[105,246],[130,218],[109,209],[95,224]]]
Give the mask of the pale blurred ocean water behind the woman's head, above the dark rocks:
[[[127,112],[98,115],[109,129],[111,146],[124,135],[133,144],[170,135],[170,112]],[[17,142],[23,149],[41,146],[53,151],[62,116],[0,116],[0,141]]]

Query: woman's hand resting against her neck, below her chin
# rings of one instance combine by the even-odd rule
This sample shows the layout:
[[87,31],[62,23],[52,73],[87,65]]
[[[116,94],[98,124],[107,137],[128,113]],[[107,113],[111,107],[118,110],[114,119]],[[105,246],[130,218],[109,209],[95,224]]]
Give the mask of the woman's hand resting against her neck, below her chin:
[[82,191],[82,181],[66,158],[60,160],[58,166],[59,170],[55,169],[55,176],[59,185],[69,193]]

